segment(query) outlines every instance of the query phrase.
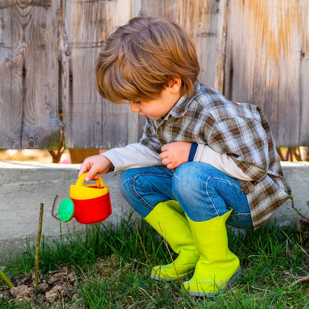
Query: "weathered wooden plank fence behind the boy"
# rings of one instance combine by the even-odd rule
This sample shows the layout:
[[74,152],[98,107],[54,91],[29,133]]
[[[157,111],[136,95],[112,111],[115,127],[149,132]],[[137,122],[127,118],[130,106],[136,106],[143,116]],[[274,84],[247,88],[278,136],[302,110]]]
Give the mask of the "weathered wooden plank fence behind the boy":
[[309,146],[308,0],[0,0],[0,148],[57,149],[62,131],[67,148],[138,141],[143,118],[94,75],[103,41],[138,15],[185,27],[199,80],[259,105],[277,146]]

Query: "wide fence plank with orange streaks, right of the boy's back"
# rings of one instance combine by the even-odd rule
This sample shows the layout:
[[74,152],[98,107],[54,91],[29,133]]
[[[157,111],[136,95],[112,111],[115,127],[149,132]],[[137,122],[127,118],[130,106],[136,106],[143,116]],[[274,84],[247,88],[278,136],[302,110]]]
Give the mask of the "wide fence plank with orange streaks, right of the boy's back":
[[278,147],[309,144],[299,127],[308,9],[306,0],[229,1],[225,95],[260,106]]

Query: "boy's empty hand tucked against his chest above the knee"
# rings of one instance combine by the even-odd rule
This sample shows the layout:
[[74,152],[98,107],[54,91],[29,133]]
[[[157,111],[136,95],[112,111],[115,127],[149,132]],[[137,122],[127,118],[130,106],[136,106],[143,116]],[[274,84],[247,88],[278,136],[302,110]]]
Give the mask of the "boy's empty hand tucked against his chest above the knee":
[[192,143],[190,142],[173,142],[165,144],[161,148],[160,159],[168,169],[173,169],[179,165],[188,162],[190,149]]

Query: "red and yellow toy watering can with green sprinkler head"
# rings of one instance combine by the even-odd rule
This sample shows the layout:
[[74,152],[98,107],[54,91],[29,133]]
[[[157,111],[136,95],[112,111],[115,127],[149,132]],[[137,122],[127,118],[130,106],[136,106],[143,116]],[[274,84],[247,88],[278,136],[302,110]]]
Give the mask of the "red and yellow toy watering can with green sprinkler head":
[[110,189],[98,176],[96,184],[84,185],[87,173],[82,174],[75,185],[70,187],[70,197],[59,205],[58,217],[70,221],[73,217],[83,224],[98,223],[112,214]]

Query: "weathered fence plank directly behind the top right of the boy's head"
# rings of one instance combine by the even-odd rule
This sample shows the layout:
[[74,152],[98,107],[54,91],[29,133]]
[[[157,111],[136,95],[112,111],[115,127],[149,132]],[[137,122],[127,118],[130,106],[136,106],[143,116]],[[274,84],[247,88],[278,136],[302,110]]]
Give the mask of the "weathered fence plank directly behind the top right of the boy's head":
[[[142,0],[142,16],[163,16],[182,25],[192,36],[200,63],[199,81],[211,87],[223,88],[224,55],[223,30],[225,20],[219,23],[219,13],[225,15],[226,0]],[[220,11],[223,9],[223,11]],[[218,28],[220,26],[220,29]],[[221,78],[221,79],[220,79]],[[223,89],[218,89],[222,91]]]

